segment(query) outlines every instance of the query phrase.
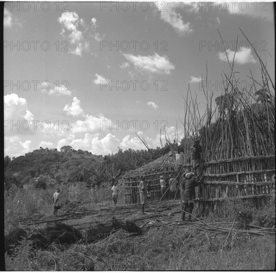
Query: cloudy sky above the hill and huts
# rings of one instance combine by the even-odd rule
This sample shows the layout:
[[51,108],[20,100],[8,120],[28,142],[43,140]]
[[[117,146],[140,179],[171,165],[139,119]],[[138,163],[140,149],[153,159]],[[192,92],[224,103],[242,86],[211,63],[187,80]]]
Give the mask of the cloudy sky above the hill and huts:
[[138,136],[151,148],[165,134],[180,140],[188,86],[203,115],[202,84],[213,99],[223,92],[225,51],[232,62],[237,45],[242,88],[251,73],[260,79],[239,28],[275,82],[274,20],[264,1],[5,2],[4,155],[64,145],[107,155],[146,149]]

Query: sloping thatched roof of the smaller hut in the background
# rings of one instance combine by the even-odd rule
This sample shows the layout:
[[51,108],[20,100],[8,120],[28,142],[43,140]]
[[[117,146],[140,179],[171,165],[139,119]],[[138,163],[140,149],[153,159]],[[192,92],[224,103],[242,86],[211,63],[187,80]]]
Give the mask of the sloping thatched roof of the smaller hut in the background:
[[134,178],[140,175],[155,174],[166,171],[175,171],[175,154],[171,152],[123,175],[123,178]]

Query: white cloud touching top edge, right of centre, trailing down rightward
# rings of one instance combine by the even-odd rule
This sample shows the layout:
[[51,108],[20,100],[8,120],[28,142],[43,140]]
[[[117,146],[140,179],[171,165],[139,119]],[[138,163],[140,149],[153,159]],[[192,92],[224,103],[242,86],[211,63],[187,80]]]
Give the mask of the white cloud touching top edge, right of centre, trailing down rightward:
[[186,10],[189,12],[195,12],[198,10],[197,3],[192,2],[166,2],[166,8],[161,4],[158,4],[160,10],[160,18],[166,23],[170,24],[175,31],[180,35],[188,35],[193,32],[193,28],[190,22],[184,23],[182,16],[179,13],[176,13],[176,8],[186,7]]

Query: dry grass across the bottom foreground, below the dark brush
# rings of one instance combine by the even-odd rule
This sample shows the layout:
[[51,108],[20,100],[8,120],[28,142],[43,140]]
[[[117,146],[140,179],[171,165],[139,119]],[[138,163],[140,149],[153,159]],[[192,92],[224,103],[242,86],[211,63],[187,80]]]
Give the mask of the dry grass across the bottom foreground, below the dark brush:
[[[214,216],[206,218],[214,222]],[[225,221],[225,219],[218,219]],[[89,229],[87,230],[89,231]],[[103,239],[74,244],[53,243],[34,249],[28,238],[21,241],[13,257],[5,257],[8,271],[190,271],[273,270],[275,235],[256,236],[244,232],[221,234],[194,225],[148,228],[140,236],[119,228]]]

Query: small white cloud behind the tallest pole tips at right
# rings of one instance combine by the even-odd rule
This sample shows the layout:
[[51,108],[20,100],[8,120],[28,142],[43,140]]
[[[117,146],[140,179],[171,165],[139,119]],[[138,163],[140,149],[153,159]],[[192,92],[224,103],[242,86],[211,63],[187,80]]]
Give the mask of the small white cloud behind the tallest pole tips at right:
[[[253,55],[251,54],[251,48],[247,48],[246,50],[239,50],[236,52],[231,51],[230,49],[226,49],[226,53],[229,59],[229,62],[233,61],[234,55],[235,55],[235,62],[239,65],[245,65],[249,63],[256,63],[256,60],[254,59]],[[227,62],[227,57],[226,57],[225,52],[220,52],[219,53],[219,59],[221,61]]]

